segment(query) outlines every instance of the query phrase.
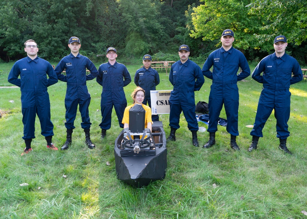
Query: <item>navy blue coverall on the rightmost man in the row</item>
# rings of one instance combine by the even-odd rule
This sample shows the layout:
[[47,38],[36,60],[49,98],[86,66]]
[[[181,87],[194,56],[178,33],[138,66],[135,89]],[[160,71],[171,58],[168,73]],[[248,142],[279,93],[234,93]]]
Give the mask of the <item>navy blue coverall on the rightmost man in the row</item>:
[[[263,74],[261,75],[261,73]],[[293,77],[291,76],[293,73]],[[251,130],[252,136],[263,137],[262,129],[274,109],[277,137],[289,137],[288,120],[290,117],[290,85],[303,79],[301,67],[296,59],[287,55],[277,57],[275,52],[263,58],[255,68],[252,78],[263,84],[258,108]]]

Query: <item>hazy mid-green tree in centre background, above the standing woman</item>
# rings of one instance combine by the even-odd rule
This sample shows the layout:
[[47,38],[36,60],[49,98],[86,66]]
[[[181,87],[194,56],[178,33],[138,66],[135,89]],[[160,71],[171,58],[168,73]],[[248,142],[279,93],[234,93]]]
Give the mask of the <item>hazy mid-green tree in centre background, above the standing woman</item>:
[[119,10],[127,26],[126,53],[132,56],[154,54],[165,46],[166,34],[159,22],[159,1],[120,0]]

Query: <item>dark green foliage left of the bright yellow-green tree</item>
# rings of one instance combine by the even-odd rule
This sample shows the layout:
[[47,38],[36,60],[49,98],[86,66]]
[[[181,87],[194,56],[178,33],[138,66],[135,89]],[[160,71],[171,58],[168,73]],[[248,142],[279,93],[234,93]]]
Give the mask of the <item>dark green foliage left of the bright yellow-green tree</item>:
[[195,2],[174,1],[171,7],[159,0],[3,0],[0,58],[24,57],[23,43],[31,38],[42,58],[57,61],[69,53],[70,36],[80,38],[81,51],[91,59],[110,46],[126,57],[167,52],[166,47],[174,52],[190,38],[185,10]]

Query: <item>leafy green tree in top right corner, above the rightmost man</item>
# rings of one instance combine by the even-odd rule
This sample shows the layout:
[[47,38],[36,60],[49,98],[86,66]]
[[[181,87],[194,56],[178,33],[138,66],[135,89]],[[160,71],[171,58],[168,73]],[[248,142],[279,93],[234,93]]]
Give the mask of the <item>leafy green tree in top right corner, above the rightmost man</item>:
[[[262,48],[270,50],[275,36],[285,35],[289,42],[300,45],[307,39],[306,0],[251,0],[247,5],[251,15],[263,21],[260,32],[255,33]],[[269,43],[267,43],[269,42]]]

